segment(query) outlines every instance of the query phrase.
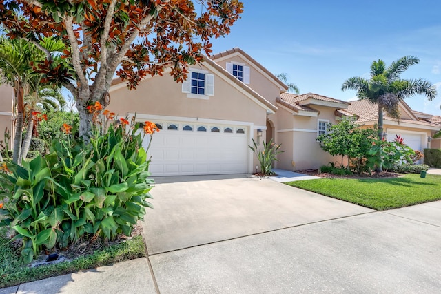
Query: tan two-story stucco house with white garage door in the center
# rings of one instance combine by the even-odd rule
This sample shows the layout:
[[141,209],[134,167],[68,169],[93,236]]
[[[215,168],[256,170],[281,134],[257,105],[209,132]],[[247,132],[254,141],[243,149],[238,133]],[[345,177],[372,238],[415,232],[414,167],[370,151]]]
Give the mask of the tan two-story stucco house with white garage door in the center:
[[[153,176],[238,174],[260,170],[252,140],[274,140],[282,169],[316,169],[335,161],[316,143],[326,123],[349,103],[318,94],[287,94],[287,86],[239,48],[189,68],[185,83],[153,76],[129,91],[110,87],[107,109],[160,127],[150,155]],[[145,145],[148,142],[146,140]]]

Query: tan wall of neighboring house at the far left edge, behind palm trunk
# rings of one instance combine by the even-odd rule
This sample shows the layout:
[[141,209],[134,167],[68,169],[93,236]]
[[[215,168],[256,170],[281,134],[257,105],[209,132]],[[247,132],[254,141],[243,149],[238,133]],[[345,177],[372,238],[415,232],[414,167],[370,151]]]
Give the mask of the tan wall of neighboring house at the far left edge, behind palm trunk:
[[0,141],[5,143],[5,131],[10,132],[8,149],[12,149],[14,89],[10,85],[0,85]]

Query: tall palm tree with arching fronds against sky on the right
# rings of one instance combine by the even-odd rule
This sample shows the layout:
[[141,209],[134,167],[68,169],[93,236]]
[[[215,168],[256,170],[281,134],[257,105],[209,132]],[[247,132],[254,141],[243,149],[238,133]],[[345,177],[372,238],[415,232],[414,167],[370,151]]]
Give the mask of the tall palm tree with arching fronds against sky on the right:
[[404,98],[415,94],[427,96],[429,100],[436,97],[436,88],[422,78],[413,80],[400,79],[400,75],[411,65],[418,64],[420,59],[415,56],[404,56],[386,67],[384,61],[378,59],[371,65],[369,79],[360,76],[348,78],[342,85],[342,91],[357,91],[360,99],[378,105],[378,138],[383,138],[383,111],[392,118],[400,119],[398,103]]

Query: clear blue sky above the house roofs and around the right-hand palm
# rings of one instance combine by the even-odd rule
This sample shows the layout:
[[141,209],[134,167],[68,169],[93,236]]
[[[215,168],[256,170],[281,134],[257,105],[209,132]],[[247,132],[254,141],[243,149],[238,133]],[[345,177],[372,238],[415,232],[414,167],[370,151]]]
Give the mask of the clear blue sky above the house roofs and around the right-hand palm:
[[351,76],[369,77],[374,60],[420,59],[402,78],[425,78],[438,96],[407,98],[412,109],[441,115],[441,1],[243,0],[232,33],[213,41],[213,52],[239,47],[274,74],[285,72],[300,93],[349,101]]

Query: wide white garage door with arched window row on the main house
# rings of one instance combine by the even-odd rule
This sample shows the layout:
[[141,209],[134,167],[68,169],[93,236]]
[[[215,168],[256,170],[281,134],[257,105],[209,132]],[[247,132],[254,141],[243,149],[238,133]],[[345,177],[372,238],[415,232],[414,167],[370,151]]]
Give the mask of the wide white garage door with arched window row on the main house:
[[[247,172],[247,127],[156,123],[149,156],[152,176],[241,174]],[[145,140],[145,147],[148,140]]]

